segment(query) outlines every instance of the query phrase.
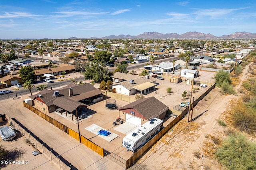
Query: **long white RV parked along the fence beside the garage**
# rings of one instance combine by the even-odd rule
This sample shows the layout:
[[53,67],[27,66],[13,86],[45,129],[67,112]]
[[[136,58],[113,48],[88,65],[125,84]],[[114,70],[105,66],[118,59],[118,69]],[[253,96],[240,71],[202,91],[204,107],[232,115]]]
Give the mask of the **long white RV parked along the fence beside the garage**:
[[136,150],[141,148],[161,130],[162,125],[163,121],[161,119],[151,119],[133,132],[127,134],[123,138],[123,146],[132,152],[136,152]]

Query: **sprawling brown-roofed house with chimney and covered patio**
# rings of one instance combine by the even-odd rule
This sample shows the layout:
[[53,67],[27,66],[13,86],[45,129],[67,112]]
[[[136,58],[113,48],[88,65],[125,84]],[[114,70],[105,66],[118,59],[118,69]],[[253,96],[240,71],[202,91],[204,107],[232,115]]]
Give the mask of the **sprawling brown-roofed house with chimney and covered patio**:
[[61,114],[73,113],[75,115],[76,111],[86,114],[89,104],[103,99],[103,92],[90,83],[69,84],[58,91],[44,89],[30,98],[34,101],[34,107],[46,113],[57,111]]

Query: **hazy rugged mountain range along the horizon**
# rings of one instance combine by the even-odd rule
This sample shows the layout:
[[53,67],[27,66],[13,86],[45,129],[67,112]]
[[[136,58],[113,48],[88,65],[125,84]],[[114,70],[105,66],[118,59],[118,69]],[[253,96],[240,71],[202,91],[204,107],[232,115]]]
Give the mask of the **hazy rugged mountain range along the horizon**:
[[[168,33],[162,34],[159,32],[144,32],[143,34],[139,34],[138,36],[131,35],[111,35],[105,36],[102,38],[91,37],[90,39],[255,39],[256,33],[250,32],[235,32],[230,35],[223,35],[220,37],[214,36],[212,34],[204,34],[201,32],[186,32],[184,34],[177,33]],[[80,39],[76,37],[71,37],[69,39]]]

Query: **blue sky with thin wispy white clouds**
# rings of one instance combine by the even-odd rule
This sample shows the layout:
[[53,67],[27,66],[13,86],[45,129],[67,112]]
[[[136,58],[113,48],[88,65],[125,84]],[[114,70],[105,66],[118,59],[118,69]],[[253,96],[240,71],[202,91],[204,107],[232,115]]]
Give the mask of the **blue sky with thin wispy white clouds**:
[[255,0],[1,0],[0,40],[256,33]]

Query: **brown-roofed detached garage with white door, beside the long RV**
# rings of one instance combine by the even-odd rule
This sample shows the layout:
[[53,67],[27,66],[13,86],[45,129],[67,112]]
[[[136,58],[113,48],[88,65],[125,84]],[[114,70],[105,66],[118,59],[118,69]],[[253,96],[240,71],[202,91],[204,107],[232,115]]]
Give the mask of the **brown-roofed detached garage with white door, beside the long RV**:
[[119,108],[120,117],[134,125],[142,125],[152,118],[164,119],[169,109],[155,97],[139,99]]

